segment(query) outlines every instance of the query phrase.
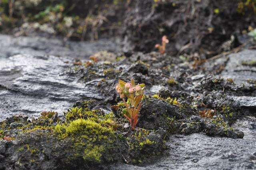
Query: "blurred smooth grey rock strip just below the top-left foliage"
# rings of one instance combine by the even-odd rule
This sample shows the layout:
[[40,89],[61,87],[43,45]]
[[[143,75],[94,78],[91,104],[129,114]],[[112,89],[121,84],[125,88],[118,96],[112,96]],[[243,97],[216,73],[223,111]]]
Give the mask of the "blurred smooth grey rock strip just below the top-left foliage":
[[19,36],[0,34],[0,58],[16,54],[33,56],[54,55],[72,58],[88,58],[90,55],[104,50],[116,51],[118,44],[114,40],[98,40],[97,42],[73,42],[63,39],[50,39],[41,36]]

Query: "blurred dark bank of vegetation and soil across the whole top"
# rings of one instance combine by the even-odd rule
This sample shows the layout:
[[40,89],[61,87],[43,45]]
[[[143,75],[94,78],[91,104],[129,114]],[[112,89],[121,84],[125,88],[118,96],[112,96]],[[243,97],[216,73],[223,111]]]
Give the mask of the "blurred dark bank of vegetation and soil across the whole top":
[[144,52],[167,35],[174,54],[184,46],[187,53],[211,53],[254,29],[255,14],[256,0],[0,0],[0,32],[69,40],[121,36]]

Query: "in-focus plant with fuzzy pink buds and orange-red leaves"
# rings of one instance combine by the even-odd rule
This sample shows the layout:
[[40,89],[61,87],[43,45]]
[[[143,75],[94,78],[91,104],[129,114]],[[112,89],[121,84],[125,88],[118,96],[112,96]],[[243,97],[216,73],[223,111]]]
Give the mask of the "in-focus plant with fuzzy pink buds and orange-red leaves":
[[[138,113],[142,104],[140,101],[143,97],[144,88],[145,84],[135,85],[133,78],[130,83],[118,80],[118,84],[116,85],[116,91],[119,93],[120,98],[123,99],[127,109],[124,117],[129,120],[132,130],[135,130],[138,123]],[[125,97],[130,100],[130,104],[127,104],[124,99]]]

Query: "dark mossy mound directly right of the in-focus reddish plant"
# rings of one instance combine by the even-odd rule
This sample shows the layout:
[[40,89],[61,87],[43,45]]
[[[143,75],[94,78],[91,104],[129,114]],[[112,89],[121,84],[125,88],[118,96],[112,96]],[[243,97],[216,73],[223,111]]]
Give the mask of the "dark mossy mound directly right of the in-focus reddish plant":
[[[168,135],[202,132],[209,136],[243,138],[243,132],[230,126],[240,115],[238,109],[231,108],[231,101],[222,102],[222,106],[213,108],[212,116],[204,117],[199,116],[200,112],[209,110],[211,105],[202,107],[201,103],[196,104],[192,99],[185,92],[169,90],[162,90],[159,95],[144,96],[138,127],[165,130]],[[124,114],[123,109],[122,103],[112,106],[114,114],[120,118]]]

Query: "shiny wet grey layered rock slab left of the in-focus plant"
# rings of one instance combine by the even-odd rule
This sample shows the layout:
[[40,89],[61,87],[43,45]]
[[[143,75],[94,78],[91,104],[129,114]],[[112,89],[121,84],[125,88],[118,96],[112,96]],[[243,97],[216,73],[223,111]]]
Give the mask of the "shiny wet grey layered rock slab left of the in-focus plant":
[[106,100],[92,88],[100,80],[85,85],[67,73],[70,60],[32,55],[0,58],[0,120],[19,113],[38,116],[48,110],[62,114],[82,98]]

